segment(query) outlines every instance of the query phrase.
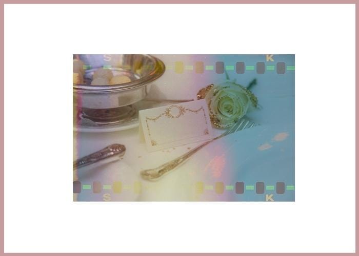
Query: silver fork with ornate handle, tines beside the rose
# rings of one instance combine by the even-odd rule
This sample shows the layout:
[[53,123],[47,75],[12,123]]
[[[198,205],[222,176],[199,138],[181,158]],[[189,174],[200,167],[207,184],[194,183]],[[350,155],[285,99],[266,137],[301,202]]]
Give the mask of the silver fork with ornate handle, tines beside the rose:
[[223,134],[221,134],[220,136],[217,136],[209,141],[206,141],[205,143],[193,148],[193,150],[190,150],[189,152],[185,153],[184,155],[179,156],[179,157],[177,157],[167,163],[164,163],[156,168],[143,170],[141,172],[141,176],[145,180],[150,180],[150,181],[158,180],[165,174],[168,174],[171,170],[176,168],[178,165],[182,164],[190,156],[192,156],[194,153],[196,153],[198,150],[200,150],[202,147],[208,145],[212,141],[220,139],[220,138],[222,138],[226,135],[229,135],[231,133],[241,131],[241,130],[244,130],[247,128],[251,128],[254,125],[255,125],[254,122],[250,122],[248,119],[242,118],[242,119],[238,120],[236,123],[234,123],[231,127],[229,127],[229,129],[226,132],[224,132]]

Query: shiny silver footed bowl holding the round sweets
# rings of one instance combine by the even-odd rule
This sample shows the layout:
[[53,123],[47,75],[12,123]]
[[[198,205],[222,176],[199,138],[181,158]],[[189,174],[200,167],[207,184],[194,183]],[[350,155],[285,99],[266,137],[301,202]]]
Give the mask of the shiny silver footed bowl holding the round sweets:
[[[144,99],[150,83],[165,72],[164,63],[141,54],[76,54],[85,63],[84,83],[73,83],[73,102],[84,117],[99,123],[114,123],[133,115],[132,104]],[[96,69],[110,69],[113,75],[126,75],[131,82],[91,86]]]

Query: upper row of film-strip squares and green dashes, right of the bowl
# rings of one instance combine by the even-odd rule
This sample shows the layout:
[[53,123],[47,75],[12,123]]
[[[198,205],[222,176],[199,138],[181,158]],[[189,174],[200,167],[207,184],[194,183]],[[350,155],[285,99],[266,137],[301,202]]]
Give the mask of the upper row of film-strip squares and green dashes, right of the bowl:
[[[272,64],[272,63],[271,63]],[[294,71],[294,66],[287,66],[285,62],[277,62],[276,65],[265,65],[265,62],[256,62],[253,65],[246,65],[245,62],[236,62],[231,65],[225,65],[223,61],[217,61],[214,65],[204,65],[203,61],[196,61],[194,65],[185,65],[182,61],[174,62],[174,65],[166,65],[166,70],[173,70],[177,74],[182,74],[186,70],[194,71],[202,74],[205,71],[215,71],[217,74],[223,74],[225,71],[235,71],[237,74],[255,71],[257,74],[266,72],[275,72],[277,74],[285,74],[286,71]]]

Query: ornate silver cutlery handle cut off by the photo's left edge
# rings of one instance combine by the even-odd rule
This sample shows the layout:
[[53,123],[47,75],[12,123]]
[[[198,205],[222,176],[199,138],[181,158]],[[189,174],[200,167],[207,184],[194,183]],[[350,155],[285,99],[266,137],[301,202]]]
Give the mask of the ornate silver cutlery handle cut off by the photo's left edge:
[[89,164],[93,164],[96,162],[108,162],[113,161],[114,158],[122,157],[126,152],[126,147],[122,144],[112,144],[100,151],[92,153],[83,158],[77,159],[73,162],[73,169],[77,169]]

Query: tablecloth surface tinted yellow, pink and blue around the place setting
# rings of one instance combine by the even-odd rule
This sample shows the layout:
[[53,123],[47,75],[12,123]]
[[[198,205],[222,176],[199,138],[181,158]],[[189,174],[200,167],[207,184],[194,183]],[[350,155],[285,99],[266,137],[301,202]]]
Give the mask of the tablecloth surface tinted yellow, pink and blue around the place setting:
[[[98,181],[110,186],[105,186],[101,193],[82,189],[75,200],[294,201],[294,70],[288,69],[288,66],[294,67],[294,55],[273,55],[274,61],[267,61],[266,55],[155,56],[164,61],[166,71],[152,83],[148,98],[194,99],[198,90],[210,83],[225,81],[226,75],[217,74],[215,68],[197,74],[191,66],[203,61],[205,66],[215,67],[215,62],[223,61],[226,66],[234,66],[234,70],[227,70],[230,80],[236,79],[237,83],[247,86],[253,78],[257,79],[251,90],[258,97],[261,110],[247,116],[260,125],[210,143],[154,182],[143,180],[139,175],[141,170],[161,165],[202,142],[149,153],[145,143],[139,141],[138,127],[110,133],[74,132],[74,159],[113,143],[127,148],[120,161],[80,168],[77,176],[82,185]],[[183,62],[183,73],[176,72],[176,62]],[[244,62],[246,67],[264,62],[266,70],[264,74],[257,74],[255,69],[237,74],[236,62]],[[278,62],[285,62],[284,74],[276,72]],[[274,70],[268,66],[274,66]],[[215,134],[222,132],[215,129]],[[121,193],[111,190],[116,181],[122,184]],[[263,184],[264,193],[257,194],[257,187]],[[276,189],[283,185],[284,193],[278,194]]]

